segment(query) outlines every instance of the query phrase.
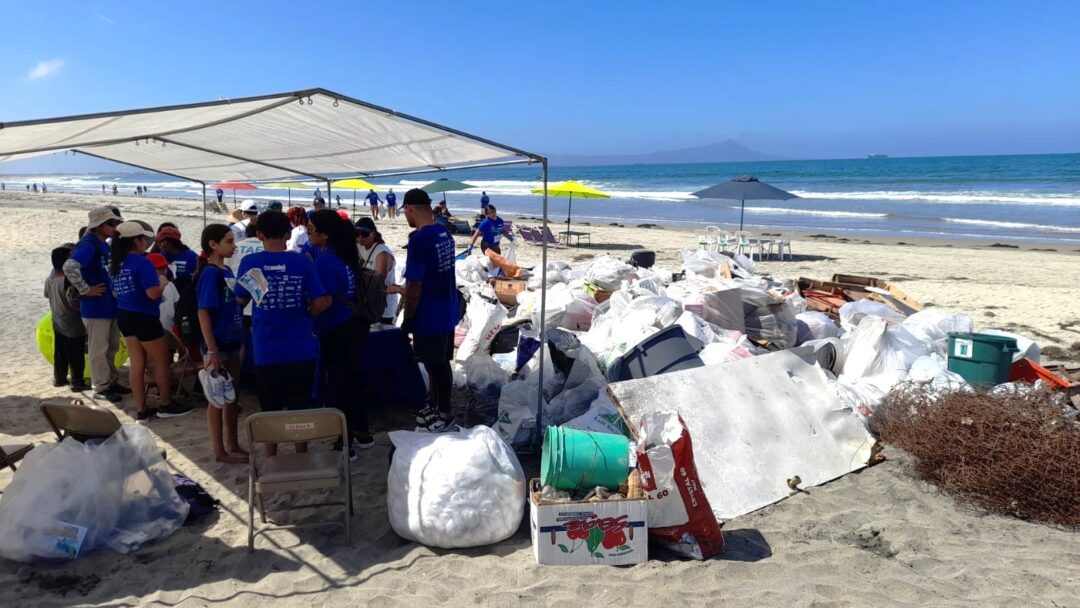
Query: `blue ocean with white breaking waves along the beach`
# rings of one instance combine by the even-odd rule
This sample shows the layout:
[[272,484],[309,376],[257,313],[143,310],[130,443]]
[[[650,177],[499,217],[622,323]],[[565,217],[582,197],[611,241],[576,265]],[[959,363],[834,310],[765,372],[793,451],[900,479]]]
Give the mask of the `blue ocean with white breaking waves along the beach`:
[[[798,194],[788,201],[747,201],[745,225],[752,231],[807,231],[849,238],[987,240],[1080,245],[1080,153],[877,158],[821,161],[770,161],[671,165],[621,165],[552,167],[550,180],[577,179],[611,194],[610,200],[576,200],[576,221],[669,224],[690,227],[708,225],[734,229],[739,225],[738,201],[702,201],[691,192],[730,179],[754,175],[758,179]],[[539,215],[539,166],[500,167],[374,180],[394,188],[399,199],[405,190],[441,176],[476,188],[450,192],[451,210],[478,207],[484,190],[500,211],[513,215]],[[121,193],[134,193],[136,185],[149,188],[151,197],[199,198],[198,184],[146,173],[94,175],[0,174],[8,188],[24,188],[44,181],[51,191],[100,192],[102,185],[117,184]],[[295,202],[311,200],[315,184],[293,190]],[[325,191],[325,186],[323,185]],[[383,190],[384,192],[384,190]],[[338,193],[335,191],[335,193]],[[238,200],[286,200],[287,192],[259,189],[238,192]],[[340,192],[343,204],[352,203],[352,191]],[[231,193],[227,194],[231,199]],[[359,193],[362,202],[364,192]],[[565,221],[566,199],[552,198],[552,221]]]

